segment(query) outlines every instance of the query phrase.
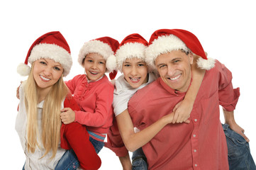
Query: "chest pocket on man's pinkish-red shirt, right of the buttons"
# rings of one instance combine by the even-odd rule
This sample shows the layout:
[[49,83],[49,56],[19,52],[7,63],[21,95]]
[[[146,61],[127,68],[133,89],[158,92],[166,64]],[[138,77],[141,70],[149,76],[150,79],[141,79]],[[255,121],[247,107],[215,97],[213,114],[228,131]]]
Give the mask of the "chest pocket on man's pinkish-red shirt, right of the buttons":
[[216,121],[220,119],[219,103],[218,103],[218,91],[215,91],[209,98],[201,100],[201,120],[204,124],[208,124],[209,121]]

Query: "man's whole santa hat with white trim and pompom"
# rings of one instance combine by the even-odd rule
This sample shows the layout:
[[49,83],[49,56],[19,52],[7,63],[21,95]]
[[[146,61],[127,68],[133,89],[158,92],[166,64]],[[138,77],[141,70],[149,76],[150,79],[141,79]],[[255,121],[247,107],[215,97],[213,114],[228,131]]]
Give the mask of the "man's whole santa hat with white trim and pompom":
[[211,69],[215,65],[215,60],[207,58],[201,43],[196,36],[187,30],[162,29],[152,33],[149,46],[145,50],[146,61],[150,67],[155,69],[155,59],[158,55],[172,50],[184,50],[199,55],[197,65],[201,69]]

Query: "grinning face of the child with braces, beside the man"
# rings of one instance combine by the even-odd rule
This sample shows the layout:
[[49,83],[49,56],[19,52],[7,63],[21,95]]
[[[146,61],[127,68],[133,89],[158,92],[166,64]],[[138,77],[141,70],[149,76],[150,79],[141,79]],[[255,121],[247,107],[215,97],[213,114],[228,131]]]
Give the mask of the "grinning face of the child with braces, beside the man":
[[143,60],[126,59],[123,62],[122,72],[128,84],[133,88],[138,88],[148,82],[148,66]]

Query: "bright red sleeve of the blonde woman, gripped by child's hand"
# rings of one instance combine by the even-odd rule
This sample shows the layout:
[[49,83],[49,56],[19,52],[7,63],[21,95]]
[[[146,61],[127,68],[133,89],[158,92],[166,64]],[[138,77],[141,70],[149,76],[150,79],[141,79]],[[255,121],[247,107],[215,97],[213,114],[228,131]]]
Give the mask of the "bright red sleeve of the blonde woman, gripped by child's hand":
[[[72,96],[67,96],[64,101],[65,108],[72,108],[73,111],[79,110],[79,106]],[[85,125],[79,123],[62,124],[61,144],[63,149],[73,149],[77,155],[80,168],[99,169],[101,159],[89,141],[89,133]]]

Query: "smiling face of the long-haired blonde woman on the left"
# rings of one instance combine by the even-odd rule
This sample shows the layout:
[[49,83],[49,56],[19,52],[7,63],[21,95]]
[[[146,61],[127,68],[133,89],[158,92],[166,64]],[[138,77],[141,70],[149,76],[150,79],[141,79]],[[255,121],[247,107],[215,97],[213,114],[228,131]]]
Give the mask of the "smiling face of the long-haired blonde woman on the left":
[[63,68],[52,59],[40,59],[34,62],[33,77],[38,89],[50,89],[62,76]]

